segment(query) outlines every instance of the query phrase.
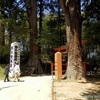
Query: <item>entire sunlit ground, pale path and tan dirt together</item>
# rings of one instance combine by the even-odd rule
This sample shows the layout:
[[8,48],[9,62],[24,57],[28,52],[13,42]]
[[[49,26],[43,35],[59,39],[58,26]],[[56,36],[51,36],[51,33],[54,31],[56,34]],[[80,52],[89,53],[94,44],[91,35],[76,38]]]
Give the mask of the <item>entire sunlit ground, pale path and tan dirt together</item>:
[[51,75],[20,79],[0,81],[0,100],[100,100],[100,76],[88,77],[87,82],[58,81]]

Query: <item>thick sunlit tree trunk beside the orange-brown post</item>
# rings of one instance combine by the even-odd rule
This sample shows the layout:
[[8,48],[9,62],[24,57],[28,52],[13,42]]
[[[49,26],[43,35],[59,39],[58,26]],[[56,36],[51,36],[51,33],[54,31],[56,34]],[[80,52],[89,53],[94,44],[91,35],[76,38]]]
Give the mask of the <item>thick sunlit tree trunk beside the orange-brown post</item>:
[[81,80],[85,78],[81,53],[81,14],[80,0],[60,0],[65,14],[68,67],[67,79]]

